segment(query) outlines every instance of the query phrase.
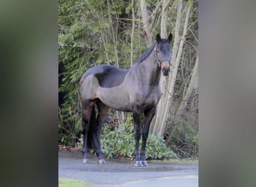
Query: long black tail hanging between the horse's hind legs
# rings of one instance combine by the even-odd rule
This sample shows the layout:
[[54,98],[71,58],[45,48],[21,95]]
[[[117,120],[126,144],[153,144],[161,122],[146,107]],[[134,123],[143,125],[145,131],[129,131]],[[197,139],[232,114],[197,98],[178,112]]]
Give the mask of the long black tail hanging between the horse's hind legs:
[[89,149],[96,149],[97,145],[98,145],[98,141],[97,141],[97,120],[96,120],[96,111],[95,111],[95,105],[94,105],[94,108],[92,108],[92,110],[91,110],[87,146],[88,146]]

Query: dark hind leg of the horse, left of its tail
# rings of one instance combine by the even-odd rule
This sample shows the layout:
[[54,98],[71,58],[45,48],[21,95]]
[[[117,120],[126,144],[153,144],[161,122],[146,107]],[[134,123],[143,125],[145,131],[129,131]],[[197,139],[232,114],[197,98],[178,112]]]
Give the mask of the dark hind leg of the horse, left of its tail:
[[82,149],[83,163],[88,163],[88,132],[90,130],[91,112],[94,109],[94,101],[82,102],[82,128],[84,134],[84,145]]

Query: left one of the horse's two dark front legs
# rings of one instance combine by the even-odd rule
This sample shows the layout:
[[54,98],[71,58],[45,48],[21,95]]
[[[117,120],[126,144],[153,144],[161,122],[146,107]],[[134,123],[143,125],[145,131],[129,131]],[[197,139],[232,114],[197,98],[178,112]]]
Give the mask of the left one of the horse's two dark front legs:
[[135,166],[141,167],[141,159],[139,156],[139,140],[141,138],[141,124],[140,124],[140,118],[141,118],[141,108],[134,107],[133,111],[133,123],[134,123],[134,138],[135,138]]

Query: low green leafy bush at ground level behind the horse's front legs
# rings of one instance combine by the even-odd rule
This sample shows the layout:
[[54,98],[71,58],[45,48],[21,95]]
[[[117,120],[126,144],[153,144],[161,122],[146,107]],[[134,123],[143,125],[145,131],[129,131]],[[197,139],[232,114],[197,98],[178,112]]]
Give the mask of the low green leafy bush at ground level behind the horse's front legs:
[[[141,138],[142,139],[142,138]],[[127,122],[116,127],[113,131],[106,126],[101,136],[102,150],[108,158],[134,158],[135,139],[132,117]],[[141,140],[140,140],[141,144]],[[168,149],[163,137],[149,135],[146,146],[146,159],[176,159],[177,155]]]

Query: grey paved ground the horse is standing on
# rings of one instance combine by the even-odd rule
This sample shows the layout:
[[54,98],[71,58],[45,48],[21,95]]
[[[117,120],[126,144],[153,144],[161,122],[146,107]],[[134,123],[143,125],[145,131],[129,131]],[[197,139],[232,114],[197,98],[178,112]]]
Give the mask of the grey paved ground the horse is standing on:
[[198,164],[148,161],[148,167],[135,167],[134,162],[106,159],[98,165],[95,156],[82,163],[82,153],[58,154],[58,177],[85,180],[91,186],[198,186]]

